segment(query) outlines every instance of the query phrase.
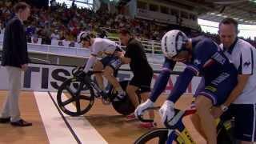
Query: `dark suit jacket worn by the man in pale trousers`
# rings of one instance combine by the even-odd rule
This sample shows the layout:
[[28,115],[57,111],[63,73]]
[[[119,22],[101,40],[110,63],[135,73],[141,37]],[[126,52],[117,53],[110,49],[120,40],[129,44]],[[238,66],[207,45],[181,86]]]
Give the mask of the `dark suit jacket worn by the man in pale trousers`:
[[22,67],[29,63],[26,43],[26,32],[17,16],[10,19],[2,45],[2,66]]

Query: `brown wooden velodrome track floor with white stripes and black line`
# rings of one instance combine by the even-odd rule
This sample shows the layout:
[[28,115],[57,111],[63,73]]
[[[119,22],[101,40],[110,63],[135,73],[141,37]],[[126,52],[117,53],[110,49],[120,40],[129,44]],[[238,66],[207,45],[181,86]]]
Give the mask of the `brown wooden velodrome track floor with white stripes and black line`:
[[[0,90],[0,106],[6,94],[6,90]],[[162,95],[156,106],[160,106],[165,99],[166,96]],[[190,95],[183,96],[177,102],[177,107],[184,109],[190,101]],[[138,121],[127,120],[116,113],[112,106],[102,105],[98,99],[90,112],[81,117],[62,114],[54,103],[56,103],[56,93],[22,91],[19,101],[22,118],[33,122],[33,126],[21,128],[0,124],[0,144],[131,144],[148,131],[139,128]],[[158,111],[155,114],[158,127],[162,127]],[[194,130],[190,118],[185,118],[185,123],[198,144],[206,143]]]

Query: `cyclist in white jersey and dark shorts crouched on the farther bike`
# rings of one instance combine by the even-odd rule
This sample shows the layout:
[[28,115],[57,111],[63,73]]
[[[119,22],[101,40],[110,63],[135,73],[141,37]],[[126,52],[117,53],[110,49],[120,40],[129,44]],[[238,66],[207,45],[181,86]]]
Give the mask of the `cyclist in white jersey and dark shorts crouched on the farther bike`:
[[[92,66],[93,70],[104,70],[103,73],[95,74],[98,86],[104,91],[103,76],[114,86],[114,90],[118,91],[118,97],[123,98],[126,94],[120,86],[118,80],[114,77],[114,71],[122,66],[121,59],[114,54],[117,51],[122,51],[119,46],[109,39],[94,38],[90,32],[82,31],[78,34],[78,43],[82,42],[82,46],[90,49],[90,58],[86,62],[84,74],[86,74]],[[100,61],[97,57],[103,57]]]

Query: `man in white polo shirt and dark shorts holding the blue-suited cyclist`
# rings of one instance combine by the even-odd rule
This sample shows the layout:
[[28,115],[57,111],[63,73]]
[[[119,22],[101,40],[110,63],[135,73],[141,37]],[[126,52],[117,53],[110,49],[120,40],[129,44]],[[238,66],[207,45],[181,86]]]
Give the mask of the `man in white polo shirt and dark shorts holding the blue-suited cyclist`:
[[228,112],[234,116],[234,138],[242,144],[252,144],[256,142],[256,50],[238,38],[238,22],[232,18],[219,23],[218,34],[224,54],[238,69],[238,85],[222,107],[214,108],[214,116],[230,109]]

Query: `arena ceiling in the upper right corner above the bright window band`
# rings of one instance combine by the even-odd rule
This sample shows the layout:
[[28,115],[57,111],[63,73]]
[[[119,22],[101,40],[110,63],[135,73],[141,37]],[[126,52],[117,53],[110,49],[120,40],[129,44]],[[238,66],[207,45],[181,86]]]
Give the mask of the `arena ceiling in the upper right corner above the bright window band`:
[[256,0],[166,0],[174,6],[193,10],[198,18],[220,22],[230,17],[239,23],[256,25]]

